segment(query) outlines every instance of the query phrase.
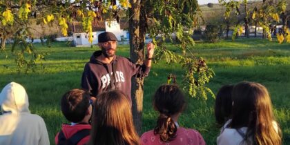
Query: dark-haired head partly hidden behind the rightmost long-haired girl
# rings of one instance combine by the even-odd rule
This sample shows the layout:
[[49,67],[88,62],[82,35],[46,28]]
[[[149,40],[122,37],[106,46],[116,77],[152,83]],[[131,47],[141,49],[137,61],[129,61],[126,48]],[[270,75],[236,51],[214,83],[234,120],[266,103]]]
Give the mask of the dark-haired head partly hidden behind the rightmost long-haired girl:
[[223,125],[231,117],[232,90],[233,85],[222,86],[215,98],[215,119],[220,125]]

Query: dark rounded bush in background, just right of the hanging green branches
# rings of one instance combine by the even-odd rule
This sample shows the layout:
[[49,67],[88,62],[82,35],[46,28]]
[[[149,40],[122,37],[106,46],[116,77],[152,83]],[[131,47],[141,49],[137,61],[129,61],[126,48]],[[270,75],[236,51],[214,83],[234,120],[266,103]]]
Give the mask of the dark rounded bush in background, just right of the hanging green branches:
[[207,25],[206,29],[204,30],[204,39],[205,41],[214,43],[218,41],[219,36],[219,28],[215,25]]

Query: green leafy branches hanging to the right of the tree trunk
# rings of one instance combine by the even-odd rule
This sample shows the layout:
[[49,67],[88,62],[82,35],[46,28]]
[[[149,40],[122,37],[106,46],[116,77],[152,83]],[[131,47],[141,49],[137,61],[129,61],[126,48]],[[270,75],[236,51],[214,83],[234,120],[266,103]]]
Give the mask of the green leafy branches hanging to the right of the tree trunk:
[[[191,97],[207,99],[207,93],[212,94],[212,92],[205,84],[213,77],[213,70],[206,66],[204,59],[198,58],[191,52],[195,44],[191,37],[193,28],[197,27],[201,14],[197,1],[150,0],[145,4],[148,6],[145,8],[147,30],[153,38],[153,43],[158,46],[155,61],[164,58],[168,64],[180,63],[184,68],[183,86],[186,92]],[[167,48],[164,45],[166,39],[171,40],[180,52],[173,52]]]

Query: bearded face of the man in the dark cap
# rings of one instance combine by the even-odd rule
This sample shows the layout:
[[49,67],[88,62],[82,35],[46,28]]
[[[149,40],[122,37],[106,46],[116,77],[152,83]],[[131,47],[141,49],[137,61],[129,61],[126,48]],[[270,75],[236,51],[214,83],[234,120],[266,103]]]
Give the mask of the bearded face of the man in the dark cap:
[[117,48],[117,41],[106,41],[102,42],[99,45],[101,47],[101,52],[105,57],[114,57],[116,48]]

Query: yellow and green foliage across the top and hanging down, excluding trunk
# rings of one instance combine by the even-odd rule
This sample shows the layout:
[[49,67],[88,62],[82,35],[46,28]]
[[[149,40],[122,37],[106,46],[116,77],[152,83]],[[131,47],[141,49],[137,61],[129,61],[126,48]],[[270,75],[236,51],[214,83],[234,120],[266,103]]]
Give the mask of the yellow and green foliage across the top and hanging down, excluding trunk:
[[[17,61],[17,64],[21,64],[19,68],[25,68],[25,70],[35,66],[35,61],[39,60],[38,57],[34,56],[41,55],[41,58],[44,58],[43,54],[37,53],[37,50],[32,47],[32,43],[24,42],[26,39],[33,37],[28,29],[32,21],[37,21],[39,25],[48,26],[51,26],[52,23],[58,23],[64,36],[68,35],[68,23],[82,21],[84,31],[88,33],[88,41],[92,43],[92,22],[102,19],[106,19],[109,22],[113,19],[119,21],[119,12],[124,10],[137,11],[133,12],[133,15],[143,14],[138,16],[140,19],[145,20],[139,22],[140,25],[144,26],[144,28],[139,29],[139,34],[143,35],[139,38],[144,38],[146,32],[149,32],[153,38],[153,43],[157,44],[156,58],[166,57],[168,58],[168,63],[178,59],[182,63],[182,66],[184,66],[184,81],[186,82],[185,84],[189,84],[187,88],[189,88],[188,90],[191,92],[191,95],[195,96],[195,92],[198,92],[201,88],[202,97],[206,98],[205,92],[211,91],[209,88],[204,88],[204,85],[213,77],[213,71],[206,65],[200,66],[199,61],[205,60],[197,58],[193,53],[189,52],[189,48],[194,45],[194,41],[191,38],[193,28],[197,26],[197,20],[200,17],[200,8],[196,0],[120,0],[119,5],[117,5],[115,0],[0,0],[0,19],[3,29],[7,30],[9,27],[17,28],[16,31],[11,31],[10,35],[3,35],[7,38],[12,38],[15,41],[14,46],[19,45],[19,47],[14,47],[13,50],[21,48],[19,49],[20,55],[15,55],[15,58],[19,59]],[[128,18],[133,19],[133,15]],[[16,35],[15,32],[20,33]],[[172,41],[173,36],[171,34],[173,33],[175,33],[176,39],[180,42],[176,43],[176,46],[180,48],[181,54],[171,52],[171,50],[162,44],[165,39],[171,39]],[[161,39],[157,39],[157,37]],[[144,45],[144,39],[136,42],[140,44],[138,46]],[[25,53],[30,55],[30,57],[27,57],[28,55],[25,55]]]

